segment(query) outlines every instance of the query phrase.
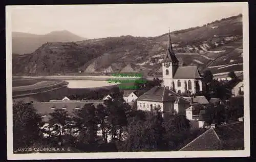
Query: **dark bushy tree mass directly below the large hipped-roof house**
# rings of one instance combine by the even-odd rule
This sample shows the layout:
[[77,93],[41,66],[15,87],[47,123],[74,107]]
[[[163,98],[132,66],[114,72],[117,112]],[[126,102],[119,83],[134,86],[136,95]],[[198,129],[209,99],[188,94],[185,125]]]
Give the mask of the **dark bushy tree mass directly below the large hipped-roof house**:
[[164,127],[160,111],[140,112],[129,118],[127,126],[126,149],[127,151],[160,151],[163,141]]

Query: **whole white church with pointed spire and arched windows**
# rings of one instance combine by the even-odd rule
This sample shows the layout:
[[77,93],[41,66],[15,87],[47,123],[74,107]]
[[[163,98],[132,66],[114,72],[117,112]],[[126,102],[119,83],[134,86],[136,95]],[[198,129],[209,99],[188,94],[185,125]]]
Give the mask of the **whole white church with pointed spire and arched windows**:
[[202,91],[203,80],[197,66],[179,66],[179,61],[173,52],[169,33],[168,49],[162,62],[163,86],[179,93],[195,94]]

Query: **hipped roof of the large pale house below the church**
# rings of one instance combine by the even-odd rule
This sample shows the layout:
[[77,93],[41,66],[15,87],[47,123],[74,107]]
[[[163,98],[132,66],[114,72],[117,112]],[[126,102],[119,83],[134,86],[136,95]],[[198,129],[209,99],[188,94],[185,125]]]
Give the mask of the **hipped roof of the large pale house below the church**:
[[176,96],[172,90],[165,87],[153,87],[145,92],[137,100],[138,101],[153,101],[153,102],[166,102],[175,101]]

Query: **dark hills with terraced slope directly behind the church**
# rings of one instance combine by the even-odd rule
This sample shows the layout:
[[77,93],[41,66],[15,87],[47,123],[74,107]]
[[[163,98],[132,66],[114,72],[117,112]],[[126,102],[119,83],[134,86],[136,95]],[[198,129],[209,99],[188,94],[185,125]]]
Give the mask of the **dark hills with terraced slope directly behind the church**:
[[[171,33],[174,52],[183,66],[196,65],[201,71],[208,68],[214,74],[242,71],[242,28],[240,14],[174,31]],[[110,66],[115,72],[129,67],[145,75],[161,75],[168,33],[157,37],[127,35],[73,42],[47,41],[31,54],[13,54],[13,75],[77,74],[78,71],[102,74]]]

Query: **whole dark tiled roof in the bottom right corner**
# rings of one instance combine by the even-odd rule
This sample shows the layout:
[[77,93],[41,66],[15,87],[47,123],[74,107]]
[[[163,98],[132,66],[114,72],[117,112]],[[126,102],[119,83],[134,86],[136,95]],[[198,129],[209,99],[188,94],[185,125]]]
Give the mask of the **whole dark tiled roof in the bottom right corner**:
[[[236,144],[236,145],[234,145]],[[210,127],[179,151],[243,150],[244,122]]]

